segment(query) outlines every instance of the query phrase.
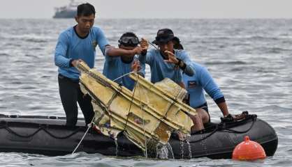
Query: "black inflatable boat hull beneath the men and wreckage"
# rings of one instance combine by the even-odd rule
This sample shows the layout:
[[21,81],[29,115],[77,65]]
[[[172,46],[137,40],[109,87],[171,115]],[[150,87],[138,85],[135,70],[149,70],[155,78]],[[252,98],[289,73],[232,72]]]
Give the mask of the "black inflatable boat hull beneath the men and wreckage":
[[[70,154],[87,127],[84,126],[83,120],[78,120],[76,127],[66,127],[65,122],[64,118],[56,117],[0,115],[0,151],[52,156]],[[246,135],[252,141],[260,143],[267,156],[275,154],[278,143],[275,130],[267,122],[254,118],[221,124],[221,127],[214,124],[209,132],[192,135],[189,141],[191,157],[230,159],[233,149]],[[187,143],[182,143],[176,138],[171,138],[169,143],[175,158],[190,157]],[[94,129],[89,130],[77,152],[122,157],[144,156],[144,152],[125,136],[118,136],[116,145],[115,140],[98,134]]]

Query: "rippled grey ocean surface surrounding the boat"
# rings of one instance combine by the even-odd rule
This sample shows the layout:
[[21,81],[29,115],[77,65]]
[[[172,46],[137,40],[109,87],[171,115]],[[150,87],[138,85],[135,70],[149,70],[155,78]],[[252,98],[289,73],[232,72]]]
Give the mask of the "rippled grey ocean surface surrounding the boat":
[[[64,116],[54,47],[73,25],[73,19],[0,19],[0,113]],[[158,29],[173,29],[191,59],[210,70],[231,113],[249,111],[275,128],[275,156],[250,162],[12,152],[0,153],[0,166],[292,166],[292,19],[96,19],[95,25],[115,46],[126,31],[154,40]],[[103,61],[98,50],[98,71]],[[210,97],[207,102],[212,121],[219,121],[216,104]]]

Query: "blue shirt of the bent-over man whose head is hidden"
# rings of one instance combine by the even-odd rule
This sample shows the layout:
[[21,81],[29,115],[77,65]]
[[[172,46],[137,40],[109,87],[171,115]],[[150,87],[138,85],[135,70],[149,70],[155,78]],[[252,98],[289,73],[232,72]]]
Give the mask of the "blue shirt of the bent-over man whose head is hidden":
[[193,66],[195,70],[194,76],[189,77],[187,74],[183,74],[184,85],[189,93],[191,107],[197,108],[205,104],[204,90],[215,102],[224,98],[221,90],[205,67],[194,62],[191,63],[191,66]]

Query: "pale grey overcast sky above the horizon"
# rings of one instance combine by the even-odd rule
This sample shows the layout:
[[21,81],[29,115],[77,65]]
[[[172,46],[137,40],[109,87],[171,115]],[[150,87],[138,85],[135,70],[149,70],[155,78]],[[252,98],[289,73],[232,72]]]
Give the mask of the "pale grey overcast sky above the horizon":
[[[52,18],[68,0],[0,0],[0,18]],[[84,1],[83,1],[84,2]],[[99,18],[292,18],[292,0],[87,0]]]

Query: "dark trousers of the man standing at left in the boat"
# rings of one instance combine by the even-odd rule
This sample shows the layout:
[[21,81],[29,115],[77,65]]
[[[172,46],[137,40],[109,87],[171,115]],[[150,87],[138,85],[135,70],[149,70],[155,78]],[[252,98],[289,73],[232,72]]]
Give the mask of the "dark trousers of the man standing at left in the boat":
[[66,125],[75,126],[78,119],[78,106],[82,110],[85,123],[89,124],[94,117],[92,98],[84,95],[80,90],[79,81],[73,81],[59,74],[59,93],[61,102],[66,113]]

